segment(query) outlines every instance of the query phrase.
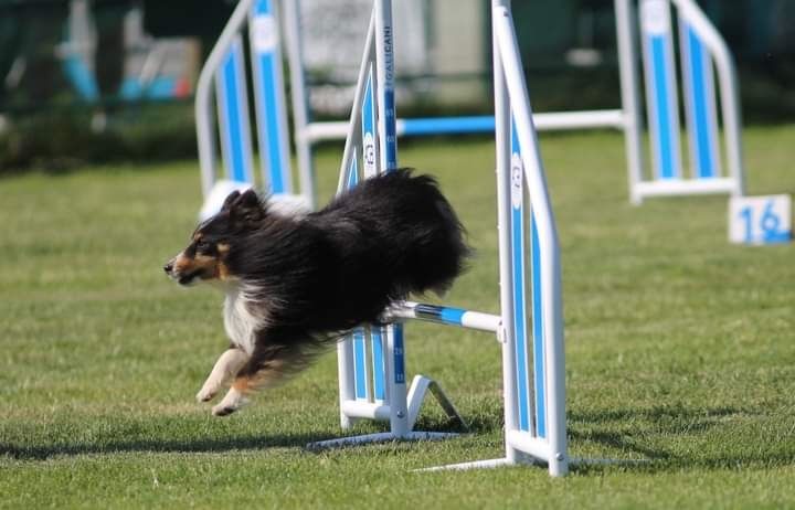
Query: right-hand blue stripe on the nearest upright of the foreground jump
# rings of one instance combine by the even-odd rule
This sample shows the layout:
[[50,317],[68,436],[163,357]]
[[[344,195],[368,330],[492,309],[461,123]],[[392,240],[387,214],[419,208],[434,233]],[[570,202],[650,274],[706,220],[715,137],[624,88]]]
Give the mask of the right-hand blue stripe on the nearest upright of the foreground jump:
[[530,219],[530,254],[532,274],[533,374],[536,391],[536,434],[547,437],[547,365],[544,355],[543,294],[541,287],[541,246],[536,215]]

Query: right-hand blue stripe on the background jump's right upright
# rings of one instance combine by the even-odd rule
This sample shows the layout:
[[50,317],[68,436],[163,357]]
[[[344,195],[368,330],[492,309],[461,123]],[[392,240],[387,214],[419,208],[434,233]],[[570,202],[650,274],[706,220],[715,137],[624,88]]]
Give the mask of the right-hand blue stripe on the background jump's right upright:
[[690,79],[690,144],[696,151],[696,176],[700,179],[718,176],[716,144],[713,137],[717,126],[710,108],[714,105],[714,91],[710,87],[712,63],[704,52],[703,44],[691,26],[687,26],[687,65]]

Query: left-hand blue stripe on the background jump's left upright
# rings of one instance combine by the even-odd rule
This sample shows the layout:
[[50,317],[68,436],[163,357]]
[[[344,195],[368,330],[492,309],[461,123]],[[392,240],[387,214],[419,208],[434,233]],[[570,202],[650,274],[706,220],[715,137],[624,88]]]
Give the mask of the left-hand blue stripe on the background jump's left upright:
[[245,155],[246,144],[244,140],[243,120],[247,116],[243,111],[241,84],[239,75],[242,72],[240,62],[240,41],[230,49],[221,67],[220,83],[222,91],[222,107],[224,108],[225,126],[222,126],[226,156],[226,173],[233,181],[252,182],[251,171],[247,168]]

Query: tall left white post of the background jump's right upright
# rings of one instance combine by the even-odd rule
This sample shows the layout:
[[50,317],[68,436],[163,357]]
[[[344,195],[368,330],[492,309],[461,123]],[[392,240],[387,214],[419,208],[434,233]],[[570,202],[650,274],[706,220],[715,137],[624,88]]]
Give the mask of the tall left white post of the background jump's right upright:
[[640,93],[638,89],[636,31],[633,20],[635,9],[632,0],[615,0],[616,41],[618,44],[618,75],[621,79],[622,110],[624,117],[624,146],[627,159],[629,200],[643,202],[637,184],[643,181],[643,152],[640,142]]

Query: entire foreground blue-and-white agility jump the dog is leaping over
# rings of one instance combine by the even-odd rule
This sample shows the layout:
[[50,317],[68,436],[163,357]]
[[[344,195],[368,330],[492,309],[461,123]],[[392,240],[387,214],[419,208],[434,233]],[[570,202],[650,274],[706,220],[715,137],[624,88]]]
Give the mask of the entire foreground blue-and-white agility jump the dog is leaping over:
[[[340,189],[356,183],[361,167],[367,177],[396,164],[390,9],[389,0],[375,0]],[[491,332],[502,348],[505,457],[431,469],[539,461],[553,476],[568,471],[560,248],[508,0],[492,0],[491,11],[501,312],[401,302],[388,311],[385,319],[392,325],[385,331],[370,328],[353,333],[338,350],[342,425],[362,417],[382,418],[390,421],[390,432],[310,447],[447,436],[411,432],[416,406],[412,392],[406,397],[401,322],[420,319]]]

